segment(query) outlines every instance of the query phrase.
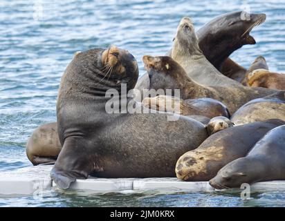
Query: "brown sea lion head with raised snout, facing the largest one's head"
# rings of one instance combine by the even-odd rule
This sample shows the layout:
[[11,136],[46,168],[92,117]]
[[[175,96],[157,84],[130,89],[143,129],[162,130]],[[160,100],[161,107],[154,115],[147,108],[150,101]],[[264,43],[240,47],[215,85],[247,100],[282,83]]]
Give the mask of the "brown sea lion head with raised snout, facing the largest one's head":
[[143,57],[145,69],[149,75],[149,88],[158,89],[180,89],[187,74],[185,70],[171,57],[160,56]]

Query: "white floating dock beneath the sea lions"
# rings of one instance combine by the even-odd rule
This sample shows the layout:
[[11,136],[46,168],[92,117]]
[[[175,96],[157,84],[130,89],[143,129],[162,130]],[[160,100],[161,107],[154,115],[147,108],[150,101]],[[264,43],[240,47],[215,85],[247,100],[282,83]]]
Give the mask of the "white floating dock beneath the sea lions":
[[[10,172],[0,172],[0,195],[33,195],[54,188],[50,180],[53,166],[29,166]],[[56,187],[55,187],[56,188]],[[72,190],[107,193],[118,191],[215,191],[209,182],[183,182],[175,177],[105,179],[89,177],[71,184]],[[254,191],[285,191],[285,181],[257,182],[250,186]]]

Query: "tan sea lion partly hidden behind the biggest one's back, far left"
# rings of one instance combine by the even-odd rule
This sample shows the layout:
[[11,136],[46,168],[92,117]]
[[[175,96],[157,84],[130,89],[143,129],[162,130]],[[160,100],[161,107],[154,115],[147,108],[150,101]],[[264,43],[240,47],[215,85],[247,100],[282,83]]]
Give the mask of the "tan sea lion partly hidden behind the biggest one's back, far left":
[[28,139],[26,154],[33,165],[46,164],[55,162],[61,149],[57,123],[53,122],[35,129]]

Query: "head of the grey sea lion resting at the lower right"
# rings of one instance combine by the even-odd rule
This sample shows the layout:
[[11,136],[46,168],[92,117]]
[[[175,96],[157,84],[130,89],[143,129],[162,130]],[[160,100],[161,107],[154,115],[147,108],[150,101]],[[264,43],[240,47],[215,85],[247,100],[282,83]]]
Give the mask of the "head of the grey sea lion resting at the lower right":
[[[230,189],[239,188],[243,183],[251,183],[258,174],[259,164],[258,160],[246,160],[246,157],[238,158],[223,166],[210,180],[210,185],[215,189]],[[262,165],[260,166],[262,167]]]

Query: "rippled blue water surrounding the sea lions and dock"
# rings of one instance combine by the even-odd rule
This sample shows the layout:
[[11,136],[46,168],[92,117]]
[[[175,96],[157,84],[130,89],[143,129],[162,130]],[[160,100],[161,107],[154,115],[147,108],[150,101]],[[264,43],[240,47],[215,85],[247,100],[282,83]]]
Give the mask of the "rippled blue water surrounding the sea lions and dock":
[[[39,4],[39,3],[40,4]],[[0,1],[0,171],[30,166],[29,135],[55,122],[60,77],[74,52],[115,44],[129,50],[144,73],[143,55],[164,55],[181,17],[196,30],[210,19],[235,10],[265,12],[266,23],[252,31],[257,44],[231,56],[243,66],[258,55],[270,70],[285,72],[285,1]],[[0,198],[0,206],[285,206],[281,191],[254,193],[46,193]]]

